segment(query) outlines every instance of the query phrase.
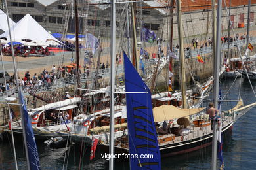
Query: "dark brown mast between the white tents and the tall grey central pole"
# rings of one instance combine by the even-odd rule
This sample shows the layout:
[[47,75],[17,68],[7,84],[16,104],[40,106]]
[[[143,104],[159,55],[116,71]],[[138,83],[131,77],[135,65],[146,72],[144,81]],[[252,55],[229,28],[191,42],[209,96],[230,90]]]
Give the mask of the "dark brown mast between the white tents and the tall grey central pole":
[[[77,74],[77,86],[79,88],[79,21],[78,21],[78,10],[77,0],[75,0],[75,54],[76,54],[76,74]],[[77,95],[80,95],[80,91],[77,90]]]

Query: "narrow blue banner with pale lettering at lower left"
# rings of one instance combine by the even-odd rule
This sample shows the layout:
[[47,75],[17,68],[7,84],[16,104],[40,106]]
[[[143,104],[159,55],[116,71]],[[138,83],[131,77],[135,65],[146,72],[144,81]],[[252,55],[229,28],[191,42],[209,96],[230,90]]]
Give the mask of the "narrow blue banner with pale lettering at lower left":
[[19,92],[20,96],[20,103],[22,103],[22,115],[24,119],[24,125],[23,128],[25,128],[26,133],[26,147],[28,148],[28,162],[30,163],[30,169],[31,170],[39,170],[41,169],[39,165],[39,156],[37,152],[37,144],[35,143],[35,136],[33,135],[33,129],[31,126],[30,118],[28,117],[28,110],[26,107],[26,103],[24,102],[23,96],[21,91]]

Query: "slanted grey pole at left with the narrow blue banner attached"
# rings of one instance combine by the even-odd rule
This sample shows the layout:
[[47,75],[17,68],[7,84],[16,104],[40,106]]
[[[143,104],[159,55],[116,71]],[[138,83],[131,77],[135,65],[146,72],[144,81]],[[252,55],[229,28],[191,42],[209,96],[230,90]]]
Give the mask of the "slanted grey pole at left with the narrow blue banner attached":
[[[13,44],[12,44],[12,34],[11,34],[11,27],[10,27],[10,23],[9,23],[9,13],[8,13],[8,7],[7,7],[7,1],[5,1],[5,9],[6,9],[6,14],[7,14],[7,25],[8,25],[8,30],[9,30],[9,38],[10,38],[10,42],[11,42],[11,50],[12,50],[12,61],[13,61],[13,66],[14,66],[14,75],[15,75],[15,80],[16,80],[16,86],[17,86],[17,90],[18,90],[18,97],[20,98],[20,87],[19,87],[19,82],[18,82],[18,70],[16,67],[16,59],[14,56],[14,49],[13,49]],[[22,99],[20,98],[20,103],[21,103]],[[22,104],[22,103],[21,103]],[[24,139],[24,145],[25,145],[25,152],[26,152],[26,159],[27,159],[27,165],[28,165],[28,170],[30,170],[30,159],[28,157],[28,148],[26,146],[27,144],[27,139],[26,139],[26,132],[25,132],[25,123],[24,123],[24,116],[23,116],[23,112],[22,112],[22,105],[20,105],[20,116],[21,116],[21,122],[22,122],[22,132],[23,132],[23,139]]]

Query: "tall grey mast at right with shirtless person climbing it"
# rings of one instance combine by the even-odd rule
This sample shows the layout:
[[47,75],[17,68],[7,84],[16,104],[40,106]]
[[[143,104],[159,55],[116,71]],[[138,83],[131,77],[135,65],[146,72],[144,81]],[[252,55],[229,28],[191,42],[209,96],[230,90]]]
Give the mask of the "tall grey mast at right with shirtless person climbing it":
[[[221,40],[221,7],[222,0],[218,0],[218,9],[217,9],[217,31],[215,42]],[[219,67],[220,67],[220,58],[221,58],[221,43],[216,44],[216,53],[215,53],[215,70],[214,70],[214,86],[213,86],[213,101],[215,107],[218,106],[219,99]],[[212,139],[212,159],[211,159],[211,170],[216,170],[217,165],[217,123],[213,121],[213,139]]]

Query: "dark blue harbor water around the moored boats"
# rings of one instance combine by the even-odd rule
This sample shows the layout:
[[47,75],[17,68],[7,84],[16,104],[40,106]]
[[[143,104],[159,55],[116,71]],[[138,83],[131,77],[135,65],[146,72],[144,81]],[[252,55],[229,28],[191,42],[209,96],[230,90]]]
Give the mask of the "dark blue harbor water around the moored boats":
[[[231,86],[231,80],[223,80],[221,84],[222,91]],[[242,80],[241,91],[240,79],[236,80],[234,88],[230,90],[230,95],[226,99],[238,99],[238,93],[241,93],[244,104],[255,102],[255,96],[247,80]],[[253,82],[253,88],[256,89],[256,82]],[[206,104],[205,104],[206,105]],[[236,103],[223,103],[223,110],[230,109]],[[238,120],[232,132],[223,135],[223,158],[224,169],[255,169],[256,167],[256,108],[247,112]],[[16,155],[18,160],[18,169],[27,169],[26,155],[22,138],[15,139]],[[39,160],[41,169],[108,169],[108,160],[100,156],[100,150],[96,150],[96,157],[90,161],[91,146],[78,145],[73,143],[69,148],[52,149],[45,146],[43,141],[37,141]],[[85,151],[85,152],[81,152]],[[102,153],[104,154],[104,152]],[[65,161],[65,163],[64,163]],[[67,163],[68,162],[68,163]],[[129,169],[129,160],[116,160],[116,169]],[[211,167],[211,146],[202,148],[196,152],[182,154],[161,159],[162,169],[210,169]],[[12,151],[11,138],[5,142],[0,142],[0,169],[14,169],[14,156]]]

